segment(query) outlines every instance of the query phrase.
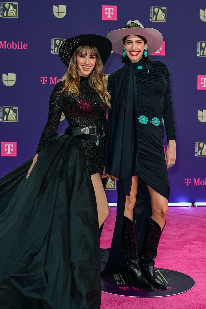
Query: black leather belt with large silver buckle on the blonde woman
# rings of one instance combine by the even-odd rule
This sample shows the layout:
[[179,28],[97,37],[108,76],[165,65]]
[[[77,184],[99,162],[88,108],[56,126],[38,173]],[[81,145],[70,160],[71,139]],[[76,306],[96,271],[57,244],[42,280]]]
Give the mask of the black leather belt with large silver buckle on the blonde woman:
[[[70,128],[68,127],[64,134],[65,135],[72,135],[78,138],[85,138],[85,139],[97,139],[97,134],[102,135],[103,133],[99,133],[102,129],[96,128],[96,126],[85,127],[85,128]],[[99,135],[99,139],[102,137]]]

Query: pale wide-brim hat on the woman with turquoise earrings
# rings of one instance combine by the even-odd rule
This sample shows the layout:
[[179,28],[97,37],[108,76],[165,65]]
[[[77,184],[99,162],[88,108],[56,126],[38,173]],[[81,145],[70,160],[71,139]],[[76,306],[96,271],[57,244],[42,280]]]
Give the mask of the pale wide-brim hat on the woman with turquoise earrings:
[[139,20],[129,20],[124,28],[108,33],[107,38],[112,42],[113,52],[121,55],[123,49],[122,39],[130,35],[144,36],[150,54],[157,52],[163,43],[163,36],[157,29],[144,28]]

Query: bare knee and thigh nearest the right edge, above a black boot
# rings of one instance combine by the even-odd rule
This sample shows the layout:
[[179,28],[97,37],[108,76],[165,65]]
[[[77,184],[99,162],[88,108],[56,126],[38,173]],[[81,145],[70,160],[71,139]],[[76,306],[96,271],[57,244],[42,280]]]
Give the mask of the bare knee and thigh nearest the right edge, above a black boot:
[[152,203],[152,216],[151,218],[156,221],[162,228],[165,225],[166,215],[168,212],[168,200],[161,194],[157,193],[154,189],[148,186],[149,194]]

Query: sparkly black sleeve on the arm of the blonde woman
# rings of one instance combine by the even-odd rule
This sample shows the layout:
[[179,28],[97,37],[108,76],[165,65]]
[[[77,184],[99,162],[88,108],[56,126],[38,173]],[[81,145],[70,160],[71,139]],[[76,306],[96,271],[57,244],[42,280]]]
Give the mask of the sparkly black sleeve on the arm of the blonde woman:
[[41,134],[36,154],[38,154],[50,142],[57,132],[66,96],[65,91],[58,93],[62,90],[63,85],[63,82],[60,81],[55,85],[51,93],[49,99],[49,115],[44,130]]

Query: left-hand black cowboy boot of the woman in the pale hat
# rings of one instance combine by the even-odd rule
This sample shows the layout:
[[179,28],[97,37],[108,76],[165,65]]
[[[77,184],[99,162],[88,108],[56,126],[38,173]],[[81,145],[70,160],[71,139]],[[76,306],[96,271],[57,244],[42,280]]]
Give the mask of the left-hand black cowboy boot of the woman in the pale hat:
[[127,217],[123,219],[122,239],[127,265],[127,280],[129,280],[129,283],[135,288],[153,291],[154,287],[145,279],[139,268],[135,225],[133,221]]

